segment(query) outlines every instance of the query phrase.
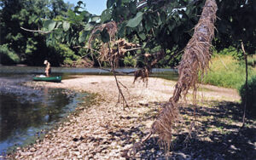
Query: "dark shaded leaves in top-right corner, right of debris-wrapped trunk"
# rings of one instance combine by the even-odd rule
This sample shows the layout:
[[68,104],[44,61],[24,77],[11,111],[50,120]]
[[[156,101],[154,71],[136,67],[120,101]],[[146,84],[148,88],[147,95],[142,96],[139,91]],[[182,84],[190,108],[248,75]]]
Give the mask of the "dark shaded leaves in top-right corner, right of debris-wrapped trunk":
[[235,46],[241,49],[241,41],[247,54],[256,49],[256,1],[217,0],[218,20],[214,46],[218,50]]

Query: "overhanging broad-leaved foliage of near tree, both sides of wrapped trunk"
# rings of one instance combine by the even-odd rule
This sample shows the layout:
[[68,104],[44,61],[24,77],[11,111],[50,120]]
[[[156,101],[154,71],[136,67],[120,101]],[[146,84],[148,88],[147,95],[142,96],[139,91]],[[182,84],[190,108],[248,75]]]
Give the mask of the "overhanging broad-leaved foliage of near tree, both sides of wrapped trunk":
[[[89,14],[79,2],[77,8],[69,10],[66,17],[56,20],[69,24],[72,30],[64,26],[55,26],[55,30],[64,30],[61,37],[71,45],[84,46],[90,37],[90,31],[113,20],[118,24],[115,34],[117,39],[128,39],[142,47],[137,51],[127,52],[125,61],[119,64],[129,64],[127,60],[136,59],[137,66],[143,66],[143,54],[153,54],[165,50],[165,55],[156,66],[176,66],[181,51],[188,43],[193,33],[193,27],[199,20],[199,14],[205,1],[193,0],[108,0],[107,9],[100,16]],[[216,37],[213,46],[221,50],[230,46],[241,49],[241,41],[250,54],[255,54],[256,25],[255,1],[222,1],[218,3],[218,20]],[[54,30],[54,31],[55,31]],[[97,41],[93,45],[96,49],[99,42],[109,37],[108,31],[96,31]],[[50,33],[54,36],[55,33]],[[104,39],[102,39],[102,37]],[[51,39],[51,42],[55,41]],[[128,58],[129,57],[129,58]],[[154,56],[148,57],[149,61]],[[134,63],[134,60],[133,62]]]

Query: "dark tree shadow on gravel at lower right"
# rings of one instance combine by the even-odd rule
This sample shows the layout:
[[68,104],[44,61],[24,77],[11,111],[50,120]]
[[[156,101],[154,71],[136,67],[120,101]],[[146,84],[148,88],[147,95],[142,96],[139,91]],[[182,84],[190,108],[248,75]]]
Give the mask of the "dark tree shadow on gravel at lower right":
[[[166,155],[157,145],[158,139],[150,138],[137,156],[140,159],[255,159],[255,119],[247,117],[247,124],[241,129],[242,108],[238,103],[207,101],[207,104],[212,105],[196,107],[198,118],[188,141],[187,131],[174,134],[172,151]],[[184,118],[183,128],[189,128],[194,119],[193,107],[181,106],[180,111],[183,117],[189,117]],[[139,130],[129,129],[123,134],[128,140],[134,132],[142,137]]]

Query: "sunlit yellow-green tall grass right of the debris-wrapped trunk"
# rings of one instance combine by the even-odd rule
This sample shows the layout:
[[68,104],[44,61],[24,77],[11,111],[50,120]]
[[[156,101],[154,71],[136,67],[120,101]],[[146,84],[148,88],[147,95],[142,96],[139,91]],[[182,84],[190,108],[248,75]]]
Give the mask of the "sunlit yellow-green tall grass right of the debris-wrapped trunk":
[[[249,75],[255,74],[251,67],[248,69]],[[245,82],[245,65],[235,60],[230,55],[218,55],[212,57],[210,70],[203,78],[203,83],[208,83],[220,87],[239,89]]]

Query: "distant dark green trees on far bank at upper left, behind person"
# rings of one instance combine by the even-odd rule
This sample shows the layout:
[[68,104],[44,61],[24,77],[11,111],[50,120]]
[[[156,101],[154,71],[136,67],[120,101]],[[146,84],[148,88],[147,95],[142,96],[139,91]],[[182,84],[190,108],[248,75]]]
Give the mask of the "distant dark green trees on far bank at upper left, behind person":
[[[63,0],[1,1],[0,63],[9,65],[21,62],[30,66],[42,66],[44,59],[56,57],[59,51],[46,45],[47,35],[24,31],[20,27],[40,30],[44,20],[55,19],[59,15],[65,16],[71,7]],[[15,59],[10,55],[15,55]],[[62,62],[63,58],[59,61],[54,60],[52,64],[58,66]]]

